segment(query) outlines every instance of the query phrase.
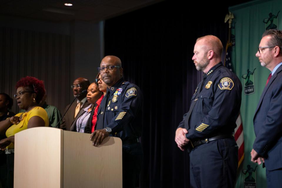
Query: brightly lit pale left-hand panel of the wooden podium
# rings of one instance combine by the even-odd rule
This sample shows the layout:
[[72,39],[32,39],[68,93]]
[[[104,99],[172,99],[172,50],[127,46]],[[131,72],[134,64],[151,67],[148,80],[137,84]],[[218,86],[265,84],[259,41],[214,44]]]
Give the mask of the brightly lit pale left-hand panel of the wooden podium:
[[34,127],[15,134],[15,188],[62,187],[63,130]]

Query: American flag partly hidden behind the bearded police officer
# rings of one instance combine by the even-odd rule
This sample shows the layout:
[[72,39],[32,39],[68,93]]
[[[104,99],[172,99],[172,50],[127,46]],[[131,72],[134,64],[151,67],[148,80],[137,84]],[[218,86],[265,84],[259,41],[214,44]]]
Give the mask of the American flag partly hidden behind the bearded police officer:
[[[224,66],[226,66],[231,71],[233,71],[232,64],[231,64],[232,46],[235,46],[235,41],[226,44],[226,54],[225,54],[225,61],[224,61]],[[239,147],[238,149],[238,168],[239,168],[244,159],[244,133],[243,133],[243,124],[242,124],[240,113],[236,120],[236,125],[237,127],[234,130],[234,133],[235,133],[234,136],[235,136],[236,143]]]

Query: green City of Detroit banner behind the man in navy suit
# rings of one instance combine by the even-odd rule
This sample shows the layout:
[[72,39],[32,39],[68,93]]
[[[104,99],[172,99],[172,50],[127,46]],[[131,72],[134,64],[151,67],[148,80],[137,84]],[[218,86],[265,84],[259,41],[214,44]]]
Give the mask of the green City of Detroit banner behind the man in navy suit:
[[256,163],[251,162],[250,156],[255,140],[253,116],[270,73],[267,68],[260,65],[255,54],[265,29],[282,29],[280,10],[282,10],[281,0],[251,1],[229,8],[235,17],[233,19],[235,46],[232,49],[231,62],[243,86],[241,117],[245,157],[236,188],[267,187],[265,169],[262,165],[257,166]]

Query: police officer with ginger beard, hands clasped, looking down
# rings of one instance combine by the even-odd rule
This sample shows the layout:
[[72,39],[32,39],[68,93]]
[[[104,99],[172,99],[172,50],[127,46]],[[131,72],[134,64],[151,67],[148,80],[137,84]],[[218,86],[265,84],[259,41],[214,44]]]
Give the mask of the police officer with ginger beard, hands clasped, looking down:
[[190,110],[179,124],[175,141],[190,151],[191,187],[234,187],[238,146],[233,137],[241,106],[242,85],[221,63],[219,38],[198,38],[192,60],[203,80],[192,97]]

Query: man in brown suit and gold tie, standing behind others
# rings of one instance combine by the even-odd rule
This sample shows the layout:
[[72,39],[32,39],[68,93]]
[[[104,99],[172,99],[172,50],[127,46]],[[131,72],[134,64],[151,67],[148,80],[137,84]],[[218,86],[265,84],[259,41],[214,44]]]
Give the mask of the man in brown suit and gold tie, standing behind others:
[[[81,93],[83,90],[87,90],[88,86],[90,85],[89,80],[86,78],[77,78],[74,80],[73,85],[71,85],[72,91],[74,93],[74,97]],[[86,99],[86,94],[83,93],[77,97],[76,102],[72,103],[71,107],[69,108],[69,105],[66,106],[64,113],[69,108],[69,111],[66,113],[66,115],[62,119],[62,123],[60,125],[61,129],[64,130],[70,130],[71,124],[74,122],[74,119],[76,115],[79,113],[81,108],[85,108],[90,105]]]

